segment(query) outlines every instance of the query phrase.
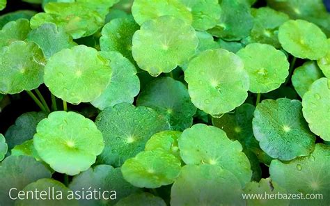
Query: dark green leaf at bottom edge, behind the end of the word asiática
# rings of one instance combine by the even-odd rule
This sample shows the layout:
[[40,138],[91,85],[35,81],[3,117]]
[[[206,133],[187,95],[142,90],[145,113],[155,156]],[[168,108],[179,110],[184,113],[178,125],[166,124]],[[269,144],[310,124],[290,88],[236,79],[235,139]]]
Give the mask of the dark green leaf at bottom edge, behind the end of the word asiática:
[[[120,168],[113,168],[109,165],[98,165],[95,168],[89,168],[88,171],[80,173],[75,176],[70,183],[70,189],[75,192],[79,191],[109,191],[104,193],[106,198],[110,198],[113,195],[113,191],[116,191],[116,200],[106,200],[104,198],[79,200],[79,205],[90,206],[90,205],[115,205],[118,200],[129,196],[129,194],[137,191],[136,187],[126,182],[123,179],[123,175]],[[113,196],[111,196],[113,198]]]

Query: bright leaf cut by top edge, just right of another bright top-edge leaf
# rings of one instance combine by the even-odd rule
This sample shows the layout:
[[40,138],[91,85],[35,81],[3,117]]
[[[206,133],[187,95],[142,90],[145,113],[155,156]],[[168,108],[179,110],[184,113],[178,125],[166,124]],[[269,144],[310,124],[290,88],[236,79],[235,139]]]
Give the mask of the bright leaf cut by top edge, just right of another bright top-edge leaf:
[[192,26],[196,30],[211,29],[219,22],[221,8],[218,0],[180,0],[180,2],[191,12]]

